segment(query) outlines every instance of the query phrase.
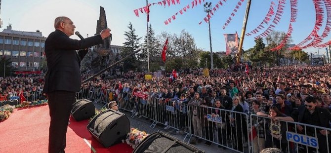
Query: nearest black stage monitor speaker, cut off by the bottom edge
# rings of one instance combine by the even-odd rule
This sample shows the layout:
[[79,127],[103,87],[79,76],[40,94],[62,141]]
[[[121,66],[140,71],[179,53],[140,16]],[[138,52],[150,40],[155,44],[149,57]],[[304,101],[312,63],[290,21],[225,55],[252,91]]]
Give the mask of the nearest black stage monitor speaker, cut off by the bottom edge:
[[204,153],[194,146],[163,132],[147,136],[132,153]]

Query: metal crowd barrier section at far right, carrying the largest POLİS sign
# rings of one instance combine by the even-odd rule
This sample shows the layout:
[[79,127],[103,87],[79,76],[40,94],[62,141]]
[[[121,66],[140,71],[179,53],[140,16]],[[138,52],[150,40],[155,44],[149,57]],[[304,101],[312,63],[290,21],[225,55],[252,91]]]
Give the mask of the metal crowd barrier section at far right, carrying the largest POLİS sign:
[[[284,153],[330,153],[331,129],[299,122],[275,120],[265,116],[250,115],[250,135],[253,137],[252,150],[259,153],[263,148],[276,147]],[[303,130],[298,129],[298,125]],[[328,134],[322,134],[321,130]],[[259,137],[259,136],[262,136]],[[263,137],[264,136],[264,137]],[[265,144],[265,146],[258,146]]]

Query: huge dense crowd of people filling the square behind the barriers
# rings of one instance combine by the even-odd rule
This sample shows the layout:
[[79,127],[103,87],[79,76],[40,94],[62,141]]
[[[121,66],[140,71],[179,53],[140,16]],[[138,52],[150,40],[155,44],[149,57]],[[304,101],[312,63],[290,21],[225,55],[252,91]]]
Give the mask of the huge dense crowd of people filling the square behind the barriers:
[[[224,132],[224,129],[231,129],[231,135],[239,136],[235,137],[235,141],[244,142],[237,143],[235,149],[243,151],[249,142],[249,134],[245,129],[249,129],[249,132],[250,130],[257,131],[257,135],[252,138],[254,153],[269,147],[278,147],[286,152],[286,150],[295,150],[293,145],[287,142],[284,133],[292,129],[301,134],[317,137],[319,146],[331,144],[326,143],[327,138],[325,137],[328,135],[328,142],[331,141],[330,131],[321,129],[316,132],[310,128],[304,129],[305,127],[299,124],[289,127],[282,122],[295,121],[330,128],[330,68],[331,65],[321,67],[285,66],[251,69],[249,73],[238,68],[217,69],[209,71],[208,77],[204,76],[201,69],[187,69],[177,70],[178,76],[173,81],[168,79],[170,73],[162,73],[153,76],[151,80],[146,80],[143,73],[134,75],[130,72],[124,74],[124,78],[106,79],[97,76],[82,85],[81,94],[85,95],[83,97],[88,97],[91,89],[99,88],[104,94],[107,93],[108,101],[117,101],[118,104],[112,102],[109,105],[110,108],[121,106],[121,102],[133,99],[134,104],[132,105],[136,107],[133,107],[132,112],[136,116],[144,114],[141,114],[142,110],[139,110],[143,107],[137,107],[140,104],[135,100],[138,97],[132,95],[133,92],[148,95],[148,98],[144,99],[146,101],[157,99],[159,104],[174,106],[178,109],[178,112],[180,111],[178,122],[183,123],[182,125],[192,126],[192,134],[197,136],[192,138],[192,144],[200,143],[202,141],[200,136],[205,135],[203,138],[207,140],[206,145],[211,145],[212,140],[215,140],[211,133],[216,131],[218,144],[224,148],[224,146],[227,146],[225,143],[229,140],[229,136],[224,134],[229,131]],[[84,76],[84,78],[87,77]],[[8,98],[10,95],[19,92],[29,93],[42,90],[43,77],[6,77],[0,78],[0,84],[0,94],[7,95]],[[131,96],[129,97],[129,95]],[[151,103],[148,104],[150,106]],[[181,105],[189,108],[180,107]],[[204,109],[204,111],[198,109]],[[222,112],[219,109],[228,110],[229,112]],[[148,109],[147,112],[151,112],[151,110]],[[163,116],[165,129],[170,128],[170,120],[165,117],[166,114],[160,110],[156,111],[159,111]],[[233,114],[230,113],[231,111],[271,119],[261,121],[261,118],[255,117],[247,123],[247,119],[243,118],[242,114]],[[187,118],[187,114],[192,115],[192,118]],[[212,123],[212,126],[208,126],[208,120],[204,118],[206,114],[222,116],[222,122],[228,124],[218,125],[219,123]],[[191,123],[191,125],[188,125],[188,123]],[[250,123],[253,126],[248,126]],[[232,124],[236,124],[236,128],[232,128]],[[282,132],[275,134],[269,128],[272,124],[273,126],[277,124]],[[179,127],[177,132],[185,131],[186,128],[184,126]],[[230,137],[232,137],[231,135]],[[331,145],[329,145],[330,148]],[[308,148],[308,150],[312,151],[314,149]],[[319,152],[328,153],[327,147],[320,147]]]

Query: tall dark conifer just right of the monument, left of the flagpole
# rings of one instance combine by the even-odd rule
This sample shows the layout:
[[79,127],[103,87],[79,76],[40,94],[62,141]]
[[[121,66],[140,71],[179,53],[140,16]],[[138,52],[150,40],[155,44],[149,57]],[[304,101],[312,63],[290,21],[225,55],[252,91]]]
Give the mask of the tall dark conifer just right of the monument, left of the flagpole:
[[[121,57],[125,57],[132,52],[141,50],[140,39],[138,35],[135,34],[135,29],[133,28],[131,22],[127,26],[129,31],[124,32],[125,42],[123,43],[124,49],[121,51]],[[139,55],[139,54],[138,54]],[[137,68],[137,57],[138,55],[130,56],[124,60],[124,71],[135,70]]]

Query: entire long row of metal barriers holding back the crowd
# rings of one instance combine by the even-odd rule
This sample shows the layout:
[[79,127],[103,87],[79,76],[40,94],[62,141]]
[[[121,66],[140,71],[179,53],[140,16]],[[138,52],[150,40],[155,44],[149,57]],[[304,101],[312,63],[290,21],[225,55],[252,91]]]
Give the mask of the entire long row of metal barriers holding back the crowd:
[[[110,92],[90,88],[88,91],[81,90],[78,97],[107,105]],[[187,142],[191,139],[206,140],[239,153],[259,153],[266,147],[277,147],[284,153],[330,153],[329,128],[258,115],[250,115],[248,118],[245,113],[194,106],[189,102],[170,101],[149,95],[121,93],[114,100],[120,109],[130,112],[132,118],[148,118],[153,121],[153,128],[162,124],[175,129],[178,133],[186,134],[184,141]],[[304,130],[300,132],[297,125]],[[320,130],[329,134],[324,136]]]

